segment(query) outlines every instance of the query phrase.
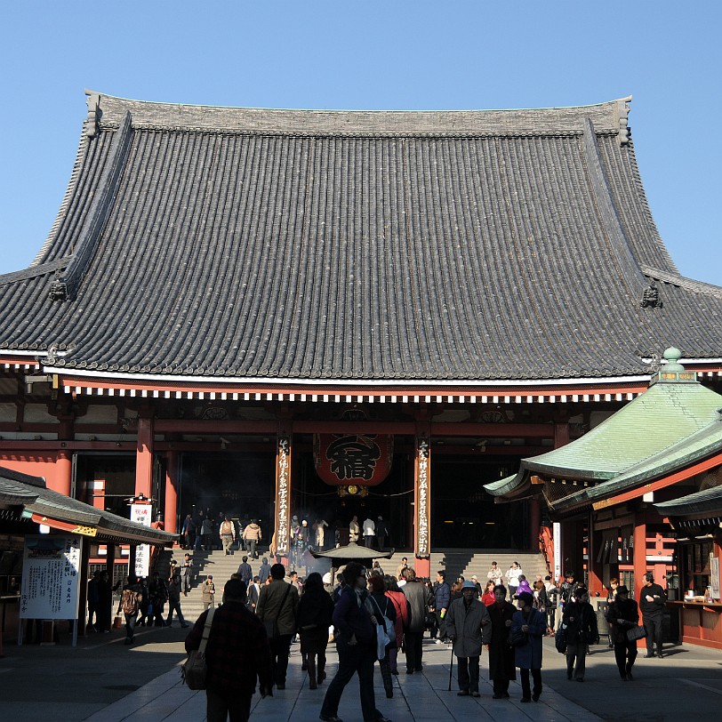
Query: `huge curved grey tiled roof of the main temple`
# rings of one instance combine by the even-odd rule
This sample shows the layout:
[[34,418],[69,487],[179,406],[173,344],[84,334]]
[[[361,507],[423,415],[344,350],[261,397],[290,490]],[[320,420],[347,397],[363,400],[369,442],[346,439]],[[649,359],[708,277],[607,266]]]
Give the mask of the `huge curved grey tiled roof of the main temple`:
[[[722,289],[678,276],[627,105],[362,112],[91,96],[0,348],[68,369],[303,380],[646,373],[722,356]],[[662,305],[642,307],[648,285]]]

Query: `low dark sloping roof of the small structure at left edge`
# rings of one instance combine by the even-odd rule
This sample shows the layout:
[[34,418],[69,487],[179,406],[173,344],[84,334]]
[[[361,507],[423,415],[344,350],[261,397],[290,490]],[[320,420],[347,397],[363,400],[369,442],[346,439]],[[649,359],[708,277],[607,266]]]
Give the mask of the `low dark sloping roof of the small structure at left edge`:
[[4,518],[32,519],[100,542],[171,546],[177,539],[176,534],[137,524],[54,492],[47,488],[42,477],[4,467],[0,467],[0,509],[7,511]]

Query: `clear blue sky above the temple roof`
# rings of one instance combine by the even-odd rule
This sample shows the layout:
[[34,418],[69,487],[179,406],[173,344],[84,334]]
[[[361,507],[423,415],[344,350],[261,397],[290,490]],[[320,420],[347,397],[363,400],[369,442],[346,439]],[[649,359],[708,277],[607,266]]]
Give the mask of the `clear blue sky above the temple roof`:
[[84,88],[266,108],[587,105],[633,95],[654,218],[682,275],[722,285],[722,2],[16,2],[0,13],[0,273],[43,245]]

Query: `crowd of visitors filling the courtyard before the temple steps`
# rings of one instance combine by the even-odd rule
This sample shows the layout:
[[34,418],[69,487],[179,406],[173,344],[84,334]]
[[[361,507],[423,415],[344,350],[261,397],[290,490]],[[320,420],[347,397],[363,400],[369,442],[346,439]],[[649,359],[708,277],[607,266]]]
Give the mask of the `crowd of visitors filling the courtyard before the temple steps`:
[[[221,521],[218,536],[226,553],[232,553],[232,543],[222,539],[224,530],[231,542],[237,537]],[[363,530],[359,525],[359,533]],[[317,541],[317,523],[311,530],[301,521],[295,531],[304,539],[310,539],[311,532]],[[323,539],[323,527],[321,533]],[[261,541],[260,527],[254,541]],[[376,561],[369,570],[350,563],[338,570],[335,578],[332,573],[311,572],[301,579],[293,564],[285,566],[278,560],[269,564],[269,557],[261,559],[254,574],[256,548],[248,546],[247,550],[237,573],[221,587],[220,599],[212,575],[200,584],[205,611],[186,639],[187,651],[198,648],[206,616],[217,607],[205,651],[211,722],[227,715],[232,720],[248,719],[257,683],[263,696],[273,695],[274,689],[284,690],[293,640],[300,643],[309,689],[325,683],[327,646],[336,644],[338,668],[320,709],[325,722],[340,722],[341,695],[354,675],[359,681],[363,717],[386,720],[376,706],[375,664],[379,664],[386,696],[393,697],[393,678],[399,674],[402,660],[405,675],[423,670],[426,631],[437,644],[453,650],[459,696],[480,696],[480,659],[485,649],[492,698],[509,697],[509,682],[517,679],[518,670],[520,702],[536,702],[542,694],[542,638],[556,634],[557,649],[566,654],[566,676],[579,682],[585,678],[590,645],[599,642],[597,613],[590,605],[589,591],[575,581],[572,572],[557,584],[550,576],[538,576],[530,583],[517,562],[505,573],[493,562],[482,588],[476,576],[447,581],[444,570],[437,572],[435,582],[421,580],[403,558],[396,574],[384,574]],[[188,594],[194,576],[193,560],[186,552],[180,565],[172,563],[168,579],[157,573],[148,582],[130,578],[119,607],[125,616],[126,644],[132,644],[136,624],[170,626],[173,613],[181,626],[188,627],[180,598]],[[107,586],[101,575],[98,583]],[[616,579],[610,582],[606,600],[609,644],[614,647],[623,681],[633,680],[637,642],[628,631],[638,628],[640,612],[646,656],[663,656],[661,619],[666,596],[651,574],[645,583],[638,606],[625,586]],[[104,623],[98,614],[96,611],[96,624]],[[231,649],[240,648],[247,653],[240,657],[230,654]]]

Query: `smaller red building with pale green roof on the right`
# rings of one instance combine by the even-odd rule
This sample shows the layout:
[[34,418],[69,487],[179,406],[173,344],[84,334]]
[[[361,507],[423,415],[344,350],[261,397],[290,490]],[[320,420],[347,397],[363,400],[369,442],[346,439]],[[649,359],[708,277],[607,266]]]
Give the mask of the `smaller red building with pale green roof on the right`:
[[680,357],[667,349],[644,394],[485,489],[542,503],[558,524],[558,575],[583,570],[591,594],[617,577],[639,598],[652,572],[682,611],[681,638],[722,649],[722,396]]

